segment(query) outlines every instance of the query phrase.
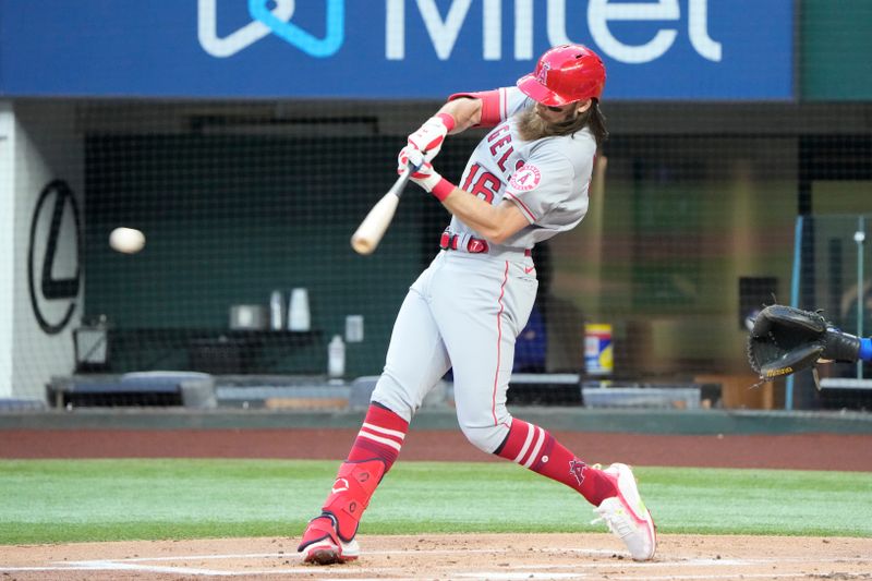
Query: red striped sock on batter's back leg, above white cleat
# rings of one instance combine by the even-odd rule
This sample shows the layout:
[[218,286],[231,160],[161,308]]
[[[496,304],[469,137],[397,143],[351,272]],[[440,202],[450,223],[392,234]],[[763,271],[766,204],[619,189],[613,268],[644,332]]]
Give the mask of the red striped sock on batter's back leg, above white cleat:
[[517,417],[509,435],[494,452],[533,472],[562,482],[581,493],[593,506],[618,494],[615,483],[602,470],[590,467],[566,449],[548,432]]

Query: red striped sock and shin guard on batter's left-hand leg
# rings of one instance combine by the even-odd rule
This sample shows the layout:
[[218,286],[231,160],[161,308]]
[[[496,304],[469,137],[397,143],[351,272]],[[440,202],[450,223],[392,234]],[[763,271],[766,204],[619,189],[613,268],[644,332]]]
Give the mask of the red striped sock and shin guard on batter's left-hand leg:
[[378,483],[397,460],[409,422],[377,404],[371,404],[358,437],[339,467],[339,473],[322,510],[336,518],[337,532],[351,541]]

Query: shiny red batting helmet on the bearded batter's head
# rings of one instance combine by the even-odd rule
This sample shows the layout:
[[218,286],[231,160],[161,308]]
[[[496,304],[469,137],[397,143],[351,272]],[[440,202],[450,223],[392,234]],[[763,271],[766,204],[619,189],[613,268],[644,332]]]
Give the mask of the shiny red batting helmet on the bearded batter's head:
[[528,97],[548,107],[598,99],[606,84],[603,60],[582,45],[564,45],[540,57],[536,70],[518,80]]

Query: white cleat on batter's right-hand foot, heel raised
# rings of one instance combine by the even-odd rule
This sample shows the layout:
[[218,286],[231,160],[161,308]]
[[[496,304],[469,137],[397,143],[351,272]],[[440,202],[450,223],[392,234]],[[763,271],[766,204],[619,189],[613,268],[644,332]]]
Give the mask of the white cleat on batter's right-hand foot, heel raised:
[[634,560],[653,558],[657,549],[654,519],[639,496],[630,467],[616,463],[603,472],[616,481],[618,495],[606,498],[593,509],[600,517],[591,524],[605,521],[608,530],[623,541]]

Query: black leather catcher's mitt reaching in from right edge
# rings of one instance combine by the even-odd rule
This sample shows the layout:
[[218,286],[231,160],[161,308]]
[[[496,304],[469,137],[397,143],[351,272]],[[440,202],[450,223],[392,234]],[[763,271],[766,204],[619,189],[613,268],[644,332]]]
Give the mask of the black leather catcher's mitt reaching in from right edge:
[[821,315],[792,306],[773,304],[754,318],[748,337],[748,361],[761,380],[771,382],[818,362],[855,362],[860,339],[841,332]]

